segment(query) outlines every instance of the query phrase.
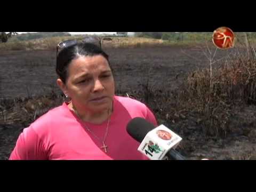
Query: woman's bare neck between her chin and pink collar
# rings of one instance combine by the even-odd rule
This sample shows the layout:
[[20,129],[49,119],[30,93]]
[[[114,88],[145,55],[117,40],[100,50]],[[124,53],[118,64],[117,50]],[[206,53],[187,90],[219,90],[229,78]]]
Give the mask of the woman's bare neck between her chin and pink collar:
[[109,106],[109,108],[102,110],[102,111],[91,111],[88,109],[84,109],[71,101],[68,105],[71,111],[74,113],[84,122],[94,123],[94,124],[101,124],[105,122],[108,118],[110,118],[113,112],[113,105]]

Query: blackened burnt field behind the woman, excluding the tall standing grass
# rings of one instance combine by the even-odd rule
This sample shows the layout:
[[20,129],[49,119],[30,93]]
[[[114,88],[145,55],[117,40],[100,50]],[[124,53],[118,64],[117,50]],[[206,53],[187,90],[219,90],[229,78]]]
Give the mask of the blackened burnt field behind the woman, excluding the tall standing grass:
[[[175,94],[178,94],[185,82],[187,73],[209,68],[209,60],[204,51],[207,52],[205,49],[193,46],[106,49],[114,69],[117,94],[126,95],[127,93],[145,102],[155,112],[159,123],[164,123],[180,134],[183,140],[179,150],[183,155],[190,159],[202,157],[253,159],[256,153],[255,128],[253,128],[256,125],[256,119],[254,119],[256,108],[253,105],[239,108],[234,106],[236,116],[234,115],[234,121],[230,126],[235,126],[237,130],[231,131],[225,137],[218,135],[213,137],[207,134],[204,127],[198,123],[200,115],[192,113],[189,109],[175,108],[177,100]],[[214,47],[210,51],[214,53]],[[218,68],[222,61],[235,51],[237,50],[218,50],[214,57],[216,62],[213,67]],[[17,117],[19,115],[26,117],[26,113],[29,112],[26,108],[27,103],[42,95],[61,94],[55,83],[57,79],[55,57],[54,50],[3,51],[0,53],[0,98],[4,101],[0,106],[2,108],[0,159],[9,157],[19,133],[29,125],[30,120],[33,120],[30,116],[34,116],[34,111],[31,112],[32,115],[28,115],[27,121]],[[153,95],[155,93],[157,94]],[[164,109],[163,107],[162,109],[167,97],[168,101],[173,102],[173,108]],[[4,103],[11,102],[15,98],[14,103],[16,102],[18,107],[15,108],[13,104],[10,104],[5,108]],[[47,98],[48,101],[50,99]],[[22,106],[25,106],[27,112],[21,110]],[[10,116],[13,119],[17,117],[17,121],[11,121]],[[243,119],[242,123],[239,118]],[[254,130],[251,131],[252,129]]]

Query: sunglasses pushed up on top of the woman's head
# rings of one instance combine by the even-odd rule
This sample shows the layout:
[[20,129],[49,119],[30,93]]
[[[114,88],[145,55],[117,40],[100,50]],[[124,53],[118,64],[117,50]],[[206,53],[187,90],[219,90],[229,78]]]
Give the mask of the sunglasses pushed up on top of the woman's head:
[[64,49],[66,47],[76,45],[78,42],[91,43],[91,44],[95,44],[95,45],[99,46],[100,48],[102,48],[102,46],[101,46],[102,45],[102,40],[103,39],[100,39],[98,37],[85,37],[85,38],[82,38],[82,39],[73,39],[73,40],[63,41],[63,42],[60,42],[57,45],[56,55],[58,57],[59,50]]

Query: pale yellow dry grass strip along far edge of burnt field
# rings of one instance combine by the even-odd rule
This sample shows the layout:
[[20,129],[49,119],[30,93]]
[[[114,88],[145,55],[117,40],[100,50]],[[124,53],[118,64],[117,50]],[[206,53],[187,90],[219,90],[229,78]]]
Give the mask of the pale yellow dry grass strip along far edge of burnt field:
[[[145,38],[145,37],[111,37],[113,41],[106,41],[103,47],[154,47],[154,46],[195,46],[196,44],[202,45],[205,41],[212,43],[211,36],[202,38],[202,34],[195,34],[183,40],[169,40],[163,41],[162,39]],[[49,37],[30,41],[10,41],[7,43],[0,43],[0,50],[52,50],[56,45],[67,39],[81,38],[81,36],[63,36],[63,37]],[[198,40],[201,39],[201,40]],[[203,41],[202,41],[203,40]],[[256,39],[250,38],[251,45],[255,45]],[[244,35],[237,34],[236,47],[244,46]]]

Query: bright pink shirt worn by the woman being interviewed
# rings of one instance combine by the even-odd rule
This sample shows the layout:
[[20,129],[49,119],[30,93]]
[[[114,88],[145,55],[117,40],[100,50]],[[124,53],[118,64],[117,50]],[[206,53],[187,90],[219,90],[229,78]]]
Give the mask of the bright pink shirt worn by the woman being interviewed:
[[[127,132],[132,118],[142,117],[157,126],[153,113],[143,103],[124,97],[114,97],[108,135],[103,151],[102,142],[85,129],[83,123],[67,103],[38,118],[19,135],[10,160],[122,160],[148,159],[137,149],[140,145]],[[95,135],[103,139],[107,121],[100,125],[85,123]]]

